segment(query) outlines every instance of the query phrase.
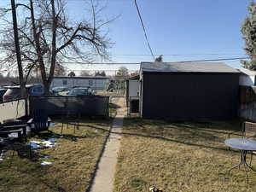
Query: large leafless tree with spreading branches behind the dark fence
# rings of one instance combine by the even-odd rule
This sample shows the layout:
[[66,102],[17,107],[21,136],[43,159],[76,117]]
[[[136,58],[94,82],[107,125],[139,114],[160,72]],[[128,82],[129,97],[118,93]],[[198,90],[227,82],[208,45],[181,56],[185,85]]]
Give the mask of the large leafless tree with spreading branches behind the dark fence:
[[[38,68],[46,95],[57,66],[64,61],[91,62],[99,55],[108,59],[110,47],[108,32],[104,30],[112,20],[102,20],[102,8],[96,1],[90,0],[90,15],[87,20],[73,22],[66,13],[65,0],[29,0],[29,3],[17,3],[23,8],[20,18],[20,54],[25,65],[26,75],[32,68]],[[0,16],[7,27],[0,31],[0,46],[5,51],[2,65],[6,68],[15,64],[15,44],[12,34],[10,9],[0,9]],[[84,13],[85,15],[85,13]],[[27,64],[30,63],[30,64]]]

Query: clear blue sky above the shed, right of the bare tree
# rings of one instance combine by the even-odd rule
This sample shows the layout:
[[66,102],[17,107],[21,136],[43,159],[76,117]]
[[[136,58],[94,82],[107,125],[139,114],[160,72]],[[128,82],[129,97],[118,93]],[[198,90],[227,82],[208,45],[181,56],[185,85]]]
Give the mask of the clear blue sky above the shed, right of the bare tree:
[[[16,0],[16,2],[26,0]],[[137,0],[149,43],[154,55],[164,55],[163,61],[190,61],[244,57],[241,24],[251,0]],[[9,3],[9,0],[2,0]],[[145,41],[134,0],[100,0],[107,3],[102,18],[112,19],[108,37],[112,62],[152,61]],[[84,0],[67,0],[67,11],[73,20],[88,17]],[[240,61],[225,61],[241,67]],[[113,65],[68,65],[70,69],[117,69]],[[138,65],[126,65],[137,70]]]

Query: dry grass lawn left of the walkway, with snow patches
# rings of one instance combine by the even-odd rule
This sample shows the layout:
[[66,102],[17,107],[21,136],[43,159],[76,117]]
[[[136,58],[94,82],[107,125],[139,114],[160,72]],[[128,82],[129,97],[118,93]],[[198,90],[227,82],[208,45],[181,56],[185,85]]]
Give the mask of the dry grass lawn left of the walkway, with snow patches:
[[[8,159],[11,152],[4,154],[3,161],[0,161],[0,191],[84,192],[94,174],[110,123],[111,119],[86,119],[75,134],[73,126],[65,127],[63,137],[60,135],[61,124],[57,124],[50,128],[53,134],[46,132],[40,137],[30,138],[40,141],[55,137],[55,148],[38,149],[32,160],[21,159],[15,152],[12,166],[9,166]],[[49,159],[44,159],[45,155],[49,155]],[[43,160],[52,162],[52,165],[41,166]]]

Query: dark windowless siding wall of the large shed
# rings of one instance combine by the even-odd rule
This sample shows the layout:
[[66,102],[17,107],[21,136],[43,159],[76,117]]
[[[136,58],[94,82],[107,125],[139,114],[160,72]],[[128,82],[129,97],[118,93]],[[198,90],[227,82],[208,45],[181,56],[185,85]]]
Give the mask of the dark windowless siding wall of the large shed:
[[238,73],[144,73],[143,118],[231,119],[237,116]]

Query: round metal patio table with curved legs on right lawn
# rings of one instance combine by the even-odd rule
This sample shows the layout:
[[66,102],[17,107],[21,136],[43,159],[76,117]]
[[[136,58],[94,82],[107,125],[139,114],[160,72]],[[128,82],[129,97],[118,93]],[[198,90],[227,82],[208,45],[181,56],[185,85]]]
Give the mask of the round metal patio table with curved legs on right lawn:
[[244,171],[246,172],[247,183],[248,183],[248,175],[247,175],[246,167],[248,167],[253,172],[256,172],[256,170],[253,169],[253,166],[251,166],[252,158],[250,160],[249,165],[247,164],[247,152],[256,151],[256,141],[252,139],[247,139],[247,138],[230,138],[225,140],[224,143],[230,148],[236,148],[240,150],[240,163],[237,166],[232,167],[230,171],[237,167],[240,168],[240,166],[243,165],[245,168]]

